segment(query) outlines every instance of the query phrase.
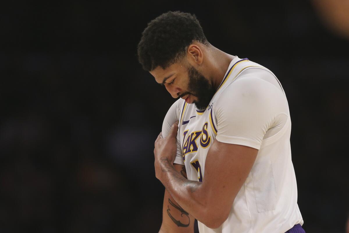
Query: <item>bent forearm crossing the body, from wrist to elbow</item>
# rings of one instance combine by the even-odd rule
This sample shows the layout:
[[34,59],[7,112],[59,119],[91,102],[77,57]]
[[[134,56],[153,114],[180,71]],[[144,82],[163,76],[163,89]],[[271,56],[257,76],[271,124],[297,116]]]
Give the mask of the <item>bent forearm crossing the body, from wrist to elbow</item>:
[[202,221],[207,207],[202,183],[185,179],[165,157],[159,163],[162,171],[159,179],[166,190],[183,209]]

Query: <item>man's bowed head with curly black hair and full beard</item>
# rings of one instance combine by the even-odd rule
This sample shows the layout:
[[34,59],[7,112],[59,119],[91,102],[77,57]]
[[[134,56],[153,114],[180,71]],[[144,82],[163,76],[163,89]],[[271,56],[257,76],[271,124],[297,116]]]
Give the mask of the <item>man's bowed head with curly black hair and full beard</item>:
[[215,89],[199,71],[209,43],[195,15],[167,12],[148,23],[138,44],[144,70],[163,84],[172,97],[205,109]]

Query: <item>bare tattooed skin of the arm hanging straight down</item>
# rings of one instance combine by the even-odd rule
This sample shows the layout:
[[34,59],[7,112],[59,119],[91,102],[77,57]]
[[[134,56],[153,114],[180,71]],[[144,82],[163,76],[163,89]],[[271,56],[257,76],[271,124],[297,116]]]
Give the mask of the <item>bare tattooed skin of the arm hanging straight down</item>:
[[[174,164],[174,168],[178,170],[185,178],[187,178],[184,165]],[[167,190],[165,190],[164,194],[162,216],[160,232],[194,232],[195,218],[186,212],[176,201],[174,201]]]

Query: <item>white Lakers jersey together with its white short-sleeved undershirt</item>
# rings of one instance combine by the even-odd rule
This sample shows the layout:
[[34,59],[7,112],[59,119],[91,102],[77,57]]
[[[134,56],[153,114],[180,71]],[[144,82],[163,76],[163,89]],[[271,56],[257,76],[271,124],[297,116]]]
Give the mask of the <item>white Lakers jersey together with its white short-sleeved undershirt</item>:
[[176,121],[174,163],[185,165],[188,180],[205,180],[206,156],[214,140],[259,150],[228,219],[217,229],[199,222],[200,233],[284,233],[303,225],[291,161],[288,103],[271,71],[247,58],[234,58],[205,110],[182,99],[172,105],[164,120],[164,137]]

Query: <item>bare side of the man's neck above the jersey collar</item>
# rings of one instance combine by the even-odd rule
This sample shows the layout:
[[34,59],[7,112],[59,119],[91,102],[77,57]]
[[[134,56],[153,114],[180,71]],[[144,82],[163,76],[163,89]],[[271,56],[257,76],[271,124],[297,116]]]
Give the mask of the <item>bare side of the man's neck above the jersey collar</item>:
[[218,89],[219,85],[224,79],[224,75],[228,70],[230,62],[236,57],[225,53],[214,46],[211,48],[211,83],[215,89]]

